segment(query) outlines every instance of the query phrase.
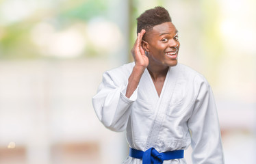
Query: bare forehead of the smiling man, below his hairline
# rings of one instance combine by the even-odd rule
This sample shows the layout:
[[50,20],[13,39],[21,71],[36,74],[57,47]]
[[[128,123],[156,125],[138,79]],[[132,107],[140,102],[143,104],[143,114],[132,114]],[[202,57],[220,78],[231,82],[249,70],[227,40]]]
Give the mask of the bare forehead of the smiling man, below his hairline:
[[177,33],[175,25],[171,22],[162,23],[160,25],[155,25],[152,30],[154,36],[161,36],[163,34],[175,35]]

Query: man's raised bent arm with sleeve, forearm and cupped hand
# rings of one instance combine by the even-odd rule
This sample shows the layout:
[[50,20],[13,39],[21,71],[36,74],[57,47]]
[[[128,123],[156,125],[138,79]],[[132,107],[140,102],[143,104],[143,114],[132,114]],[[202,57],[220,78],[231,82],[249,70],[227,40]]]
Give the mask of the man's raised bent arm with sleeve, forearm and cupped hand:
[[[130,105],[137,98],[138,83],[149,64],[149,59],[142,49],[142,36],[146,31],[138,33],[138,38],[131,50],[135,66],[127,79],[121,79],[121,72],[105,72],[98,93],[92,98],[94,110],[101,122],[112,131],[125,131],[130,115]],[[121,79],[121,80],[120,80]]]

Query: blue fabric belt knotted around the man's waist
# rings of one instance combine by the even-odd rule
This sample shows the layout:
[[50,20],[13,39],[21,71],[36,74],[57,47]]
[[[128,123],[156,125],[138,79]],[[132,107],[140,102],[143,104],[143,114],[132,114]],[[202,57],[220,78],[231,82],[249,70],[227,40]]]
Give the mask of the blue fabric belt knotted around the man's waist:
[[184,150],[159,153],[155,148],[149,148],[145,152],[130,148],[129,156],[136,159],[142,159],[142,164],[162,164],[164,160],[183,159]]

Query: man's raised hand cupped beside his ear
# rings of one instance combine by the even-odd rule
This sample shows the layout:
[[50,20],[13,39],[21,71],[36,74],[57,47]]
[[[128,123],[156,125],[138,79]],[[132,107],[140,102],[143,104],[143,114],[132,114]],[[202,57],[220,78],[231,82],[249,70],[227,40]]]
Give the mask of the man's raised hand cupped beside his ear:
[[146,33],[146,30],[144,29],[138,33],[138,37],[131,49],[136,66],[142,68],[146,68],[149,65],[149,58],[146,56],[144,49],[142,48],[142,37],[144,36],[144,33]]

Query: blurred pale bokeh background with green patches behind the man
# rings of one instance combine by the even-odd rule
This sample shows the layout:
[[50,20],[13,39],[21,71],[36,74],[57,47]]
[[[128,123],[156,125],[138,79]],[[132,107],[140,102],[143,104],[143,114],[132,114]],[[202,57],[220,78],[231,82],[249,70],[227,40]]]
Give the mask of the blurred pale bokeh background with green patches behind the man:
[[0,164],[125,160],[125,133],[91,98],[132,61],[136,18],[156,5],[179,30],[179,62],[212,85],[226,163],[256,163],[256,1],[0,0]]

